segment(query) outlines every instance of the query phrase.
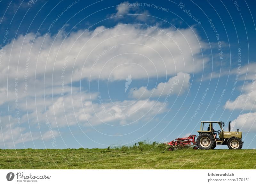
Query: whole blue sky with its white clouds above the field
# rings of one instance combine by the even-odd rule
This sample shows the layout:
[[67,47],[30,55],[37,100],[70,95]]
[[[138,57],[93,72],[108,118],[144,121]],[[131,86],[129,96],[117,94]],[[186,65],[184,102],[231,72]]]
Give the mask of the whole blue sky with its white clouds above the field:
[[256,148],[255,1],[0,4],[1,148],[169,141],[202,120]]

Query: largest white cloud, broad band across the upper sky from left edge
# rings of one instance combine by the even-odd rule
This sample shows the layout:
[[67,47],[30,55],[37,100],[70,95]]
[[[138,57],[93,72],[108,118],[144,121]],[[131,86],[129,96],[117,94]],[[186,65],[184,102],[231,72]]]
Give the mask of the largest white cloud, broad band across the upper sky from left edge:
[[[25,97],[26,75],[27,97],[37,98],[39,93],[59,92],[63,72],[67,86],[84,78],[113,81],[130,74],[133,79],[142,79],[202,70],[208,59],[200,55],[201,49],[207,48],[200,37],[189,28],[170,27],[165,31],[172,37],[144,25],[122,24],[109,29],[99,26],[93,31],[79,30],[66,38],[64,32],[46,38],[34,33],[20,35],[3,48],[0,85],[6,84],[8,73],[11,102],[15,97],[15,77],[19,81],[19,98]],[[7,87],[1,88],[0,93],[3,104],[7,101]]]

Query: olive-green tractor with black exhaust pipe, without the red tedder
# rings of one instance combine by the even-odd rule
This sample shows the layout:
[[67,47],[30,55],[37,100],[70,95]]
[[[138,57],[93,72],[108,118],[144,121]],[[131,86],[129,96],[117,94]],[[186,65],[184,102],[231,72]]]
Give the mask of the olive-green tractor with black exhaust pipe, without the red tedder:
[[[220,130],[215,131],[213,124],[218,124]],[[241,149],[243,146],[242,132],[237,129],[236,132],[230,132],[230,122],[228,123],[228,132],[224,131],[224,122],[206,121],[201,122],[201,128],[197,132],[199,136],[196,139],[196,145],[199,149],[214,149],[217,145],[228,145],[229,149]],[[217,138],[217,134],[219,138]]]

